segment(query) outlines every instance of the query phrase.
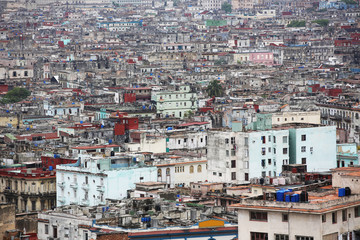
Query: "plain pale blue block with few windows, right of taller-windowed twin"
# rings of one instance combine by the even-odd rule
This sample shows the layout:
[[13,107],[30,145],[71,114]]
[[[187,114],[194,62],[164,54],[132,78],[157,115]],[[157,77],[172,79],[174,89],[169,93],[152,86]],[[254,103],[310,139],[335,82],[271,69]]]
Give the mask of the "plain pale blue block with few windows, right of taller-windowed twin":
[[289,129],[290,164],[306,164],[308,172],[336,167],[335,126]]

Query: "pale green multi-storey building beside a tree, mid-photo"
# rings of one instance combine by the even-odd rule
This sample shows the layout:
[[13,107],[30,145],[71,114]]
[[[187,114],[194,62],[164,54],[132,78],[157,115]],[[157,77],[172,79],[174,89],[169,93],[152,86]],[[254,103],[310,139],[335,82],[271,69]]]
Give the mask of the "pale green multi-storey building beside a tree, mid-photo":
[[154,98],[159,117],[184,118],[187,112],[198,109],[197,94],[189,86],[181,86],[174,92],[157,92]]

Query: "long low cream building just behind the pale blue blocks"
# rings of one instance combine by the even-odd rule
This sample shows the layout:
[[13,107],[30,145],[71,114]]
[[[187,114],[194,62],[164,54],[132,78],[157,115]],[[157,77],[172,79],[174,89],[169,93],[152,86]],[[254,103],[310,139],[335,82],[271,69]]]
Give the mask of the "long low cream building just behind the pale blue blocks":
[[306,123],[320,125],[320,111],[279,112],[272,114],[272,125]]

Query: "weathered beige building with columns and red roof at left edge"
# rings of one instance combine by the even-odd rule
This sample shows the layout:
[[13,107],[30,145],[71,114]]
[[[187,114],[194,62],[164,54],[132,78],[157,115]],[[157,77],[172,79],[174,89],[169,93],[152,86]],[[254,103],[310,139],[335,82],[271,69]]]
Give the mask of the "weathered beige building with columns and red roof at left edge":
[[56,205],[55,178],[54,171],[2,170],[0,200],[13,203],[17,213],[51,209]]

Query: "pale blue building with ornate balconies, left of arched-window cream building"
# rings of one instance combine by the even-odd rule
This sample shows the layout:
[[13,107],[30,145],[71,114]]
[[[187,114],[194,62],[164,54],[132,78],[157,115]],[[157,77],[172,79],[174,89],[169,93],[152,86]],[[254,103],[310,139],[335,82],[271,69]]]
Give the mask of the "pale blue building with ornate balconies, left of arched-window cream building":
[[106,199],[123,199],[135,183],[156,181],[156,167],[139,167],[136,158],[79,158],[57,167],[57,206],[104,205]]

